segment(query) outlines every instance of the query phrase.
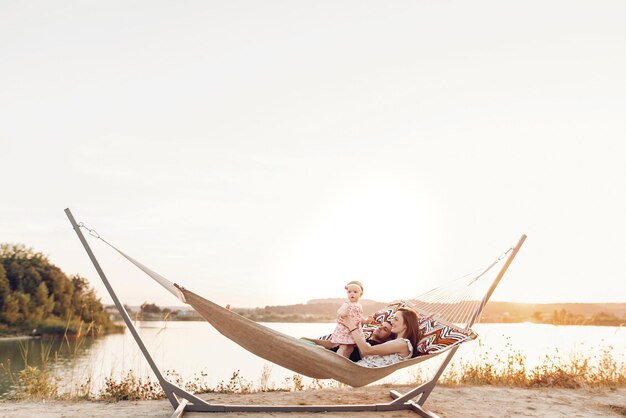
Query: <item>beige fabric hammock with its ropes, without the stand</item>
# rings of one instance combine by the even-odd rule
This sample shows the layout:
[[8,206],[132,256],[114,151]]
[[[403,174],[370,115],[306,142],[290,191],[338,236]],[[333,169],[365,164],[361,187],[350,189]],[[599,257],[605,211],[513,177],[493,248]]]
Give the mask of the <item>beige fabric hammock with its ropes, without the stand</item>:
[[[102,238],[100,239],[102,240]],[[405,302],[406,305],[420,313],[420,318],[434,318],[437,324],[440,326],[443,324],[447,327],[446,332],[454,333],[456,338],[448,338],[449,344],[436,347],[437,349],[429,354],[423,354],[389,366],[367,368],[321,346],[312,345],[302,339],[275,331],[225,309],[182,286],[170,282],[108,242],[104,242],[177,296],[182,302],[191,305],[222,335],[251,353],[296,373],[314,379],[334,379],[353,387],[364,386],[380,380],[398,369],[420,363],[474,339],[476,334],[469,329],[469,323],[475,320],[479,310],[482,310],[484,305],[481,303],[482,297],[471,299],[468,298],[468,295],[475,294],[476,290],[480,291],[484,287],[480,285],[484,285],[485,281],[481,282],[479,279],[502,259],[501,257],[496,260],[477,276],[461,278],[445,288],[433,289],[417,299]],[[454,322],[463,323],[465,327],[461,328]]]

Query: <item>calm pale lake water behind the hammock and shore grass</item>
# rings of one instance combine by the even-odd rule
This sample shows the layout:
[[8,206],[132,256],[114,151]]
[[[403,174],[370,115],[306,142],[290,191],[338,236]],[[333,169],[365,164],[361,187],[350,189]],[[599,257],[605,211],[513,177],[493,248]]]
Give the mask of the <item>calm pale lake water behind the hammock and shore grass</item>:
[[[264,325],[295,337],[315,337],[334,329],[334,324],[329,323]],[[256,384],[264,368],[270,365],[223,337],[206,322],[137,322],[136,327],[161,371],[174,370],[184,380],[203,373],[206,374],[203,381],[215,386],[228,381],[233,372],[239,370],[240,376]],[[611,350],[613,358],[619,362],[626,361],[626,330],[621,327],[522,323],[478,324],[474,330],[479,338],[463,344],[455,362],[475,363],[485,355],[503,357],[514,351],[526,356],[526,365],[530,368],[540,364],[546,356],[565,360],[571,355],[594,358],[602,350]],[[13,372],[22,370],[24,358],[30,365],[40,365],[46,353],[49,367],[63,378],[63,384],[81,384],[90,376],[94,392],[99,390],[105,377],[119,378],[129,370],[139,376],[154,377],[129,332],[83,339],[79,345],[60,340],[0,340],[0,362],[5,366],[5,370],[0,370],[0,398],[13,389],[7,368]],[[438,360],[429,360],[397,371],[381,382],[412,382],[419,373],[428,375],[438,363]],[[283,386],[284,380],[293,374],[271,365],[270,382]]]

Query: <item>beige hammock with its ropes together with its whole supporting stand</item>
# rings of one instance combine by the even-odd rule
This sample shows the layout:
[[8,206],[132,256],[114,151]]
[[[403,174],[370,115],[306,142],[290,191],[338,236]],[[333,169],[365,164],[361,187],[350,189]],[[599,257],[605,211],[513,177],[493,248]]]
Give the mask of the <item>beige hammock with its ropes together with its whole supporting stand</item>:
[[[235,343],[239,344],[246,350],[251,353],[262,357],[268,361],[271,361],[275,364],[283,366],[287,369],[293,370],[294,372],[316,378],[316,379],[335,379],[339,382],[348,384],[353,387],[363,386],[374,381],[377,381],[395,370],[408,367],[417,363],[420,363],[424,360],[432,358],[438,354],[442,354],[445,352],[450,352],[446,361],[436,374],[433,381],[428,382],[427,384],[422,385],[414,389],[405,395],[400,395],[395,392],[392,392],[392,396],[396,397],[396,401],[391,404],[396,405],[395,407],[380,407],[377,405],[376,410],[396,410],[396,409],[414,409],[419,412],[418,409],[421,410],[420,405],[426,400],[426,397],[434,387],[436,380],[439,378],[441,373],[443,372],[443,368],[449,362],[451,356],[456,352],[458,346],[465,342],[469,341],[476,337],[476,334],[471,330],[471,326],[478,322],[480,319],[480,314],[489,300],[489,297],[495,290],[498,285],[500,279],[504,275],[504,272],[508,268],[508,265],[513,260],[513,257],[519,250],[519,247],[522,245],[526,236],[523,235],[520,241],[518,242],[516,247],[512,247],[508,249],[504,254],[498,257],[493,263],[491,263],[488,267],[481,269],[477,274],[464,276],[446,286],[435,288],[425,294],[421,295],[418,298],[407,300],[405,303],[414,308],[420,314],[420,317],[425,319],[427,322],[427,326],[430,327],[439,327],[437,328],[437,332],[440,334],[441,329],[444,329],[446,333],[456,335],[455,338],[444,338],[444,344],[435,344],[434,349],[430,350],[428,346],[425,347],[425,352],[422,355],[414,357],[409,360],[405,360],[399,363],[395,363],[389,366],[384,367],[376,367],[376,368],[367,368],[358,365],[350,361],[349,359],[342,357],[330,350],[326,350],[321,346],[312,345],[309,342],[306,342],[302,339],[297,339],[292,336],[280,333],[271,328],[265,327],[262,324],[251,321],[235,312],[232,312],[228,309],[225,309],[199,295],[196,293],[185,289],[182,286],[179,286],[171,281],[167,280],[165,277],[159,275],[153,270],[149,269],[145,265],[141,264],[137,260],[123,253],[113,245],[109,244],[105,241],[100,235],[92,229],[86,228],[82,223],[76,224],[71,212],[69,209],[66,209],[66,214],[70,219],[70,222],[74,226],[76,233],[79,236],[79,239],[83,243],[83,246],[87,250],[89,257],[91,258],[96,270],[98,271],[100,277],[102,278],[107,290],[111,294],[122,318],[125,320],[126,325],[129,327],[129,330],[135,337],[140,349],[143,351],[146,360],[150,364],[151,368],[155,372],[161,386],[163,386],[166,395],[170,399],[170,402],[174,407],[178,407],[180,409],[179,415],[182,415],[182,412],[185,410],[189,411],[250,411],[250,410],[259,410],[259,411],[268,411],[268,410],[281,410],[281,411],[292,411],[292,410],[306,410],[306,411],[329,411],[335,410],[334,406],[323,406],[323,409],[310,409],[309,407],[301,407],[301,408],[293,408],[291,409],[280,409],[284,407],[272,407],[273,409],[267,409],[261,407],[255,407],[250,409],[251,407],[242,407],[242,406],[229,406],[227,409],[218,408],[212,409],[215,406],[207,404],[201,399],[191,395],[184,390],[178,388],[177,386],[171,384],[167,380],[163,378],[161,373],[158,371],[158,368],[154,364],[154,361],[150,357],[147,349],[143,345],[141,338],[136,332],[130,318],[128,317],[127,312],[123,308],[122,304],[119,302],[115,292],[113,291],[111,285],[106,279],[104,272],[100,268],[99,263],[97,262],[93,252],[91,251],[87,241],[85,240],[80,228],[84,228],[89,231],[89,234],[96,237],[97,239],[103,241],[105,244],[113,248],[115,251],[120,253],[123,257],[145,272],[148,276],[154,279],[157,283],[163,286],[166,290],[174,294],[181,301],[191,305],[203,318],[205,318],[217,331],[223,334],[225,337],[231,339]],[[508,257],[506,257],[508,255]],[[497,276],[493,280],[487,280],[486,278],[489,271],[493,269],[495,265],[500,263],[502,260],[506,258],[504,265],[498,272]],[[443,327],[443,328],[442,328]],[[438,335],[439,335],[438,334]],[[459,336],[461,336],[459,338]],[[464,338],[463,338],[464,337]],[[422,340],[420,340],[422,341]],[[427,341],[428,342],[428,341]],[[421,344],[421,343],[420,343]],[[431,344],[431,347],[432,344]],[[415,396],[415,394],[421,393],[422,396],[420,398],[421,402],[415,404],[411,401],[411,398]],[[182,398],[184,400],[179,400],[176,396]],[[409,397],[410,396],[410,397]],[[189,402],[194,403],[194,405],[188,405]],[[388,405],[388,404],[382,404]],[[404,407],[400,408],[398,405]],[[356,405],[359,407],[365,407],[367,405]],[[355,407],[356,407],[355,406]],[[182,409],[181,409],[182,408]],[[244,409],[241,409],[244,408]],[[279,408],[279,409],[276,409]],[[322,408],[322,407],[320,407]],[[382,408],[382,409],[380,409]],[[417,409],[416,409],[417,408]],[[177,409],[177,411],[178,411]],[[369,408],[371,409],[371,408]],[[341,410],[369,410],[369,409],[341,409]],[[423,410],[422,410],[423,411]],[[424,413],[426,413],[424,411]],[[432,415],[425,415],[432,416]]]

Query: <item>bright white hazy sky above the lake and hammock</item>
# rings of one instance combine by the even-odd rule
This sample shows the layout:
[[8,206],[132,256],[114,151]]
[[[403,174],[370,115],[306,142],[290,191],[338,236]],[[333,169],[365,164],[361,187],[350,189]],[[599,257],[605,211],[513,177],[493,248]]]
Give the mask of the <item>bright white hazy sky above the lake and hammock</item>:
[[[235,306],[626,302],[622,1],[0,1],[0,242]],[[177,300],[92,243],[124,302]]]

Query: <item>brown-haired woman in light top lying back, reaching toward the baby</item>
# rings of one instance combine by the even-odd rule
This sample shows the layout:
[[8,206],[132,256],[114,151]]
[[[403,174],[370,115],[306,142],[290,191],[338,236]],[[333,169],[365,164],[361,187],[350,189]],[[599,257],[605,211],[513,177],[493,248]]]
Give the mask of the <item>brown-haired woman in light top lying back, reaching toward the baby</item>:
[[356,321],[351,317],[343,317],[339,322],[348,327],[348,331],[356,343],[361,360],[357,364],[364,367],[380,367],[408,360],[413,357],[414,349],[419,341],[417,312],[410,308],[399,308],[391,319],[391,332],[397,338],[383,344],[370,346],[365,342]]

